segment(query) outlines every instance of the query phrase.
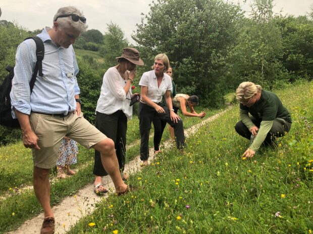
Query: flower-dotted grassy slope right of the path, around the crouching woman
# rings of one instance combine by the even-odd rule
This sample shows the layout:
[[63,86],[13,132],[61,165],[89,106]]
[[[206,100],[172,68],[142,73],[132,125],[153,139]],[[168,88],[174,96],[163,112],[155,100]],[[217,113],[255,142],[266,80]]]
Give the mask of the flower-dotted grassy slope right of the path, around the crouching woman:
[[[305,92],[303,92],[305,90]],[[277,91],[291,131],[243,160],[238,105],[132,175],[138,190],[111,195],[69,233],[311,233],[313,83]]]

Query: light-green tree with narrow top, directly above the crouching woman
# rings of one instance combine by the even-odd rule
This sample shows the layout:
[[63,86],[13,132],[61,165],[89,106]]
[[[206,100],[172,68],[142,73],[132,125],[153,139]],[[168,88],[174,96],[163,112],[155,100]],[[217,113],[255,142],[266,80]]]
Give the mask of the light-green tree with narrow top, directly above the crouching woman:
[[[251,81],[265,88],[273,88],[279,80],[288,78],[281,63],[283,40],[273,9],[273,0],[256,0],[250,17],[239,24],[237,45],[228,58],[231,63],[229,88],[242,81]],[[278,82],[280,83],[280,82]]]

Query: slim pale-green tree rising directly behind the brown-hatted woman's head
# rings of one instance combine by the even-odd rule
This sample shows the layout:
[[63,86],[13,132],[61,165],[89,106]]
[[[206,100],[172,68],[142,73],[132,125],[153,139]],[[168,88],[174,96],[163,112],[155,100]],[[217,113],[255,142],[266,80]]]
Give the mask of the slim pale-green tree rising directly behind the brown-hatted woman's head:
[[99,50],[100,56],[105,58],[106,67],[116,64],[116,57],[119,57],[123,48],[128,47],[128,41],[124,38],[122,29],[114,23],[107,24],[108,32],[104,35],[104,45]]

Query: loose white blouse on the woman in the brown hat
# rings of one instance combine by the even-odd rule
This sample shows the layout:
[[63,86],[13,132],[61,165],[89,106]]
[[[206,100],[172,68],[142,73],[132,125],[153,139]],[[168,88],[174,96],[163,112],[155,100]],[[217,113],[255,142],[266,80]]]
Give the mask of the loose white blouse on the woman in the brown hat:
[[100,97],[97,102],[96,111],[103,114],[113,114],[122,110],[128,119],[132,118],[133,107],[129,106],[131,89],[126,94],[124,87],[126,82],[116,67],[110,67],[105,75],[101,86]]

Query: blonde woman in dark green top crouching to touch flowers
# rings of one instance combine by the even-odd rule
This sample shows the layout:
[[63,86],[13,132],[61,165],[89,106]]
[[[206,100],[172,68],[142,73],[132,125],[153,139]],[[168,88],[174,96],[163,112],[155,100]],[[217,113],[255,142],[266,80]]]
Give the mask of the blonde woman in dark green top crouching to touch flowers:
[[240,121],[235,130],[247,139],[255,136],[242,157],[252,158],[262,143],[271,145],[276,137],[289,132],[290,113],[276,94],[243,82],[236,90],[236,99],[240,102]]

